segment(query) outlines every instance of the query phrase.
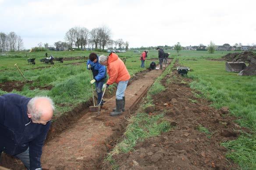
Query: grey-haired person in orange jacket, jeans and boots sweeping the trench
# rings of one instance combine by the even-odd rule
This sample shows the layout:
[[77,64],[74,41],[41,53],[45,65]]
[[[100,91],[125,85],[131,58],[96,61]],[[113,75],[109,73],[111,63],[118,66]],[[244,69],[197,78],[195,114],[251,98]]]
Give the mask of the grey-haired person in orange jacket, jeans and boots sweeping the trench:
[[117,83],[116,92],[116,109],[110,112],[110,116],[121,115],[124,112],[125,96],[124,92],[128,85],[128,81],[131,78],[124,62],[115,53],[110,53],[109,56],[101,55],[99,57],[101,65],[107,66],[107,74],[109,79],[107,80],[107,87],[113,83]]

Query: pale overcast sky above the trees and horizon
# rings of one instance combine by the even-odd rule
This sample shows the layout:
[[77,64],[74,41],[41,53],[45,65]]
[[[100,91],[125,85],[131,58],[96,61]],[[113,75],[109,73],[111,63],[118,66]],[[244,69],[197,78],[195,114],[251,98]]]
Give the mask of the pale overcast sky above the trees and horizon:
[[26,49],[64,41],[72,27],[106,25],[129,47],[256,44],[255,0],[0,0],[0,32]]

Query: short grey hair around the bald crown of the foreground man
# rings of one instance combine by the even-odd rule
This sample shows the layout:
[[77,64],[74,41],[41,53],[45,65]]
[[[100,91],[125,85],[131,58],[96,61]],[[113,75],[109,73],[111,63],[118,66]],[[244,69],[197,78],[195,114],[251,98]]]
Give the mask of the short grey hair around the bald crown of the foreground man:
[[32,115],[32,119],[34,119],[34,120],[36,120],[36,121],[40,120],[40,118],[41,118],[41,116],[42,116],[42,114],[43,114],[43,109],[37,109],[37,108],[36,108],[35,102],[36,102],[36,100],[38,100],[38,99],[46,99],[46,100],[48,100],[48,101],[50,102],[50,105],[51,105],[51,108],[53,109],[53,111],[54,111],[54,109],[55,109],[53,100],[50,99],[49,97],[47,97],[47,96],[46,96],[46,97],[44,97],[44,96],[43,96],[43,97],[41,97],[41,96],[33,97],[33,98],[28,102],[27,107],[28,107],[28,112],[29,112],[29,114]]

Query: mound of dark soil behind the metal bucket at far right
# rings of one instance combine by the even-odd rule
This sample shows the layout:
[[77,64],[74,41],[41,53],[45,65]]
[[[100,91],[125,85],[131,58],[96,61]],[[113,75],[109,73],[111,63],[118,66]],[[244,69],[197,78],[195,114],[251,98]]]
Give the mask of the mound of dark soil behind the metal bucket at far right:
[[256,59],[256,54],[252,51],[244,51],[242,53],[228,53],[222,57],[225,61],[232,61],[232,62],[250,62],[252,58]]

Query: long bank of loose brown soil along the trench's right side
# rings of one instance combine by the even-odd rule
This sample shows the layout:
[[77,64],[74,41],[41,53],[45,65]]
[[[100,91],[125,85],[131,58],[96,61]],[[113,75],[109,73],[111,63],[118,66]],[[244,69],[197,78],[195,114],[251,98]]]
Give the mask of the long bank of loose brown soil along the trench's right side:
[[[171,79],[170,84],[167,84],[167,79]],[[189,88],[190,81],[179,76],[177,71],[163,79],[166,90],[153,97],[155,110],[150,115],[165,112],[165,119],[173,128],[139,143],[134,152],[114,156],[120,170],[238,168],[225,158],[227,149],[220,143],[234,140],[240,130],[247,130],[234,123],[235,118],[228,115],[227,107],[216,110],[210,107],[210,102],[196,98],[195,91]],[[199,132],[199,127],[207,128],[211,134]],[[111,169],[108,164],[104,166],[103,169]]]

